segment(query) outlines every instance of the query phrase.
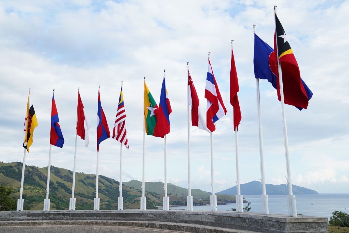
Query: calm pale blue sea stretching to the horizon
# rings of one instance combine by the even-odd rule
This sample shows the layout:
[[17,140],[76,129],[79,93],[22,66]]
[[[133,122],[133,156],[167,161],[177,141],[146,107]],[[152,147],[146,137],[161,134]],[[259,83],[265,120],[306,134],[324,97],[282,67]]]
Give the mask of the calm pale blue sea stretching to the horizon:
[[[250,212],[262,212],[260,195],[244,195],[251,202]],[[269,213],[287,214],[285,195],[268,195]],[[349,213],[349,194],[296,195],[297,213],[307,216],[327,217],[328,220],[335,210]],[[246,206],[247,203],[244,203]],[[218,211],[236,208],[235,203],[217,205]],[[186,206],[170,206],[170,210],[185,210]],[[193,210],[210,210],[209,205],[194,205]]]

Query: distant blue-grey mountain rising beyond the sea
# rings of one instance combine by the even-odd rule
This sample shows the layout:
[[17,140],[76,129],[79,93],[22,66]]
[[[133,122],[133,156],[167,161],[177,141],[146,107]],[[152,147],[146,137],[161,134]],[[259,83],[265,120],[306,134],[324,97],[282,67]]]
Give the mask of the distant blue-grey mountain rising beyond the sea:
[[[260,186],[260,184],[261,182],[259,181],[251,181],[245,184],[240,184],[241,194],[242,195],[260,195],[262,193],[262,187]],[[286,184],[279,184],[279,185],[266,184],[265,187],[268,195],[288,195],[288,187]],[[294,195],[319,194],[315,190],[303,188],[294,184],[292,184],[292,190]],[[237,194],[236,185],[232,188],[217,192],[217,194],[236,195]]]

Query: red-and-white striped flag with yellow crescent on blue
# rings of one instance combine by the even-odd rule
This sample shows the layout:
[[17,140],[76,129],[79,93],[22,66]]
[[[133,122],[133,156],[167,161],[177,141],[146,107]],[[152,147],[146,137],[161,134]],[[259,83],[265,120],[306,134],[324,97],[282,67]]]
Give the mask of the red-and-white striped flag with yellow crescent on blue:
[[124,105],[124,96],[122,95],[122,86],[119,97],[118,111],[116,112],[116,118],[113,129],[113,138],[120,143],[124,144],[128,149],[127,132],[125,126],[126,111]]

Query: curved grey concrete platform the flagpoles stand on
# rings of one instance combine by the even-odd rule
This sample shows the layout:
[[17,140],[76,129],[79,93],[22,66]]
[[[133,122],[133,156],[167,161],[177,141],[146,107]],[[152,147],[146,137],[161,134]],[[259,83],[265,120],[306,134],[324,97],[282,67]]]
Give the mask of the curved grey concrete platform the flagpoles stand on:
[[5,211],[0,212],[0,232],[4,229],[2,227],[9,226],[83,225],[143,227],[197,233],[328,233],[327,221],[327,218],[310,216],[289,217],[284,214],[228,211]]

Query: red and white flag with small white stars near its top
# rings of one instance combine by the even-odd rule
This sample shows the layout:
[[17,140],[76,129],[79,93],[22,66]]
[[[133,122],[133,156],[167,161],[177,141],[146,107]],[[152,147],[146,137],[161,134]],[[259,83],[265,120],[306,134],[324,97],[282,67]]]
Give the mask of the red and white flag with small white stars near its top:
[[198,126],[199,129],[206,130],[208,132],[209,129],[207,129],[205,117],[202,115],[200,104],[199,104],[199,97],[196,93],[196,89],[192,80],[192,77],[189,73],[188,68],[188,105],[192,108],[192,125]]

